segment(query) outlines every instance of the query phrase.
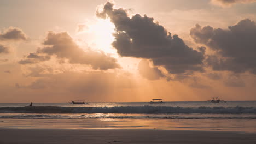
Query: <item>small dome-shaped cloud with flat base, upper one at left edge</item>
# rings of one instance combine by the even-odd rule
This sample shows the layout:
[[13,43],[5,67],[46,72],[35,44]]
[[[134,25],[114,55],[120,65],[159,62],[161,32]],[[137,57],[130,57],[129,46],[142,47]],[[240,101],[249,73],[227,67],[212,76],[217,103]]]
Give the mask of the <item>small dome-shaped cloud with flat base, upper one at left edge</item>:
[[0,34],[0,41],[1,40],[28,40],[28,37],[21,29],[9,27],[3,34]]

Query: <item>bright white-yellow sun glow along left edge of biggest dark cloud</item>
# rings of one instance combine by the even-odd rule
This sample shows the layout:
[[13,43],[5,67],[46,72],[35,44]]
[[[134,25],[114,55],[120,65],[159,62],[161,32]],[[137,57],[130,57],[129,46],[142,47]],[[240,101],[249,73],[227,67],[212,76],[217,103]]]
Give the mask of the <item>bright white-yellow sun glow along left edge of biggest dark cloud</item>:
[[103,51],[111,57],[117,58],[122,70],[132,73],[137,77],[139,76],[137,67],[141,59],[133,57],[120,57],[118,56],[117,50],[112,46],[115,39],[113,36],[115,26],[112,22],[110,22],[109,19],[96,18],[90,21],[87,20],[81,26],[84,26],[84,28],[83,31],[78,32],[78,39],[82,40],[83,42],[77,41],[81,47],[84,47],[84,43],[86,43],[85,45],[88,45],[90,49]]

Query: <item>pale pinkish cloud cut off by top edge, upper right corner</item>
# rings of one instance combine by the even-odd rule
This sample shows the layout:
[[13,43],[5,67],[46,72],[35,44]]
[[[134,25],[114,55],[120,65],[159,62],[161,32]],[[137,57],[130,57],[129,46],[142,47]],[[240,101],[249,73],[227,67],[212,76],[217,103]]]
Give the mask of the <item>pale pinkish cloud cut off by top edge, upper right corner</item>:
[[256,0],[211,0],[211,3],[221,7],[230,7],[235,4],[250,4],[254,3]]

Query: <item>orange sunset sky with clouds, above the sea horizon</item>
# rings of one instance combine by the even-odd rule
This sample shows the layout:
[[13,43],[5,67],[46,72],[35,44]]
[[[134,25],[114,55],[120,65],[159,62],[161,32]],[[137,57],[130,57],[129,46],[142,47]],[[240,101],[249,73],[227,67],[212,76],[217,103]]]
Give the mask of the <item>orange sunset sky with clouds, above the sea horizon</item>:
[[0,103],[256,100],[255,0],[0,0]]

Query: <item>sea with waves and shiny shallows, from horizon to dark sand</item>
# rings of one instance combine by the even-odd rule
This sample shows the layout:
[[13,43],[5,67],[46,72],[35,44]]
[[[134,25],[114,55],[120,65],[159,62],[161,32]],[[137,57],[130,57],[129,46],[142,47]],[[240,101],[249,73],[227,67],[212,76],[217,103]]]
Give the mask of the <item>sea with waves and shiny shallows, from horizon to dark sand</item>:
[[256,101],[0,103],[0,128],[164,129],[256,133]]

